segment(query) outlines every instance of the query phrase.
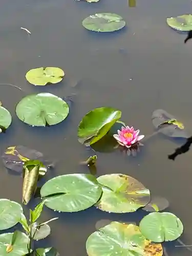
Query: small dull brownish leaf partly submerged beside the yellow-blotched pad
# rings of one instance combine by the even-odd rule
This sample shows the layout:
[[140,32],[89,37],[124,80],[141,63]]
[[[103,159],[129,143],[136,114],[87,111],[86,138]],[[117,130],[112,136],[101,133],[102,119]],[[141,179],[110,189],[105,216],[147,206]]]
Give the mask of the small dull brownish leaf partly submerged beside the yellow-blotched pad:
[[161,211],[166,209],[169,206],[169,202],[166,198],[163,197],[151,197],[151,201],[142,208],[146,211]]

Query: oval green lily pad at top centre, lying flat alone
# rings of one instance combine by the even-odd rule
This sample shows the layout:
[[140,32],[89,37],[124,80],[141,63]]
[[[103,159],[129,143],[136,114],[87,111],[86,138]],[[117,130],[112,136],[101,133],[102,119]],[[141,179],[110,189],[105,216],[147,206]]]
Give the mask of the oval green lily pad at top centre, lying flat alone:
[[95,13],[85,18],[82,26],[96,32],[113,32],[122,29],[125,22],[115,13]]

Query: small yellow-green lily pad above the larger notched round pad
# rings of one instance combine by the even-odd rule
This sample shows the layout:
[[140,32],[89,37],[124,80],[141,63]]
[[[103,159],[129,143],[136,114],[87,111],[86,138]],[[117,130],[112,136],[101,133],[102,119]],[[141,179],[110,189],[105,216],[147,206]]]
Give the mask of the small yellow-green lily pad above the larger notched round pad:
[[28,82],[34,86],[46,86],[47,83],[58,83],[63,79],[65,73],[62,69],[48,67],[31,69],[26,74]]

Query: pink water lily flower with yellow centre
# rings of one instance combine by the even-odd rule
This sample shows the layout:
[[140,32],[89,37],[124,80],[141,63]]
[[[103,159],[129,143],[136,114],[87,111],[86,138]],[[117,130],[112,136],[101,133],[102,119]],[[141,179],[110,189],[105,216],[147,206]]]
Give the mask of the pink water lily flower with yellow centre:
[[117,130],[118,134],[114,134],[113,137],[121,146],[131,147],[135,143],[144,138],[144,135],[139,135],[139,130],[135,131],[132,126],[121,127],[121,131]]

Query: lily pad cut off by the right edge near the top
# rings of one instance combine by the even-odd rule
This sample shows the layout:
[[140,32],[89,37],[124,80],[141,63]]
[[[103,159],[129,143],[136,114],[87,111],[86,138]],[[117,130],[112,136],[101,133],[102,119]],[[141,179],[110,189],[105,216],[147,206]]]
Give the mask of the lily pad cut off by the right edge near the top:
[[177,17],[167,18],[167,24],[171,28],[179,31],[190,31],[192,30],[192,15],[185,14]]

